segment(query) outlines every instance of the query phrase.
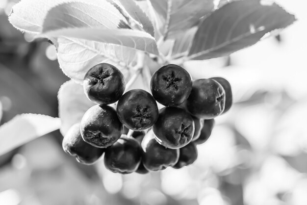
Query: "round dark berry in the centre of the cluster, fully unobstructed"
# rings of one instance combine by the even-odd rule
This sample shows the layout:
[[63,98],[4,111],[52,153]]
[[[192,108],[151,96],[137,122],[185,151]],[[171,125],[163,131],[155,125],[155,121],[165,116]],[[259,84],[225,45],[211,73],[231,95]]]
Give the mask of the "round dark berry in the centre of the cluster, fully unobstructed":
[[153,96],[141,89],[129,90],[117,103],[117,115],[129,129],[144,130],[158,119],[158,106]]

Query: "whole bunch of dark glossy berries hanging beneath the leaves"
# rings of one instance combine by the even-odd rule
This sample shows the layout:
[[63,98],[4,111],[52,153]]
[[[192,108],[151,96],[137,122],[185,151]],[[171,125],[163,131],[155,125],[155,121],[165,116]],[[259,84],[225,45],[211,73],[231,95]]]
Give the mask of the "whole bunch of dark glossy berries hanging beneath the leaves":
[[[88,99],[97,103],[63,139],[66,153],[93,164],[104,153],[112,172],[140,174],[171,166],[179,169],[197,158],[214,118],[232,105],[230,83],[222,77],[192,80],[182,67],[169,64],[151,79],[151,92],[125,91],[125,78],[114,66],[92,67],[83,81]],[[108,104],[117,102],[116,110]],[[165,107],[158,109],[157,103]]]

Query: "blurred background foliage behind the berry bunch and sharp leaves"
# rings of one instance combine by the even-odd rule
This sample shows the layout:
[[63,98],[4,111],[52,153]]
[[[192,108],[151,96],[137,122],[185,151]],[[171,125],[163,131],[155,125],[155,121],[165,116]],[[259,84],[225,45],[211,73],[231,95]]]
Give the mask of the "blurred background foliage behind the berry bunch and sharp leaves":
[[[9,24],[17,1],[0,0],[1,124],[20,113],[56,117],[57,91],[68,80],[49,42]],[[102,162],[78,164],[55,131],[0,156],[0,205],[306,205],[307,3],[278,2],[299,19],[280,35],[185,63],[192,77],[227,78],[235,103],[217,118],[195,164],[114,174]]]

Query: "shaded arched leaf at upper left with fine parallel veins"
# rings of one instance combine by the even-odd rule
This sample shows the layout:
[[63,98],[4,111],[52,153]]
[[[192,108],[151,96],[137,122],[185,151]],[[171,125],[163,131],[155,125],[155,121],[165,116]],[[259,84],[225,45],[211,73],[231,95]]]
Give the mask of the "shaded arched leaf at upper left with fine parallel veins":
[[129,28],[124,16],[106,0],[67,2],[52,7],[44,20],[43,33],[61,28]]

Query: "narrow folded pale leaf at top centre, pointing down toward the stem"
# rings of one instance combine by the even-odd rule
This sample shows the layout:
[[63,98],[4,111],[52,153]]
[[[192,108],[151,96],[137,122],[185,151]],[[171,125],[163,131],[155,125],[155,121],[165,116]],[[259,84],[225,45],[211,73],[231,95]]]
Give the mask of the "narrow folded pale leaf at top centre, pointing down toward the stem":
[[[144,11],[136,4],[134,0],[118,0],[129,15],[129,19],[132,18],[132,23],[139,24],[144,31],[151,34],[154,37],[154,28],[149,17]],[[135,22],[136,21],[136,22]]]

